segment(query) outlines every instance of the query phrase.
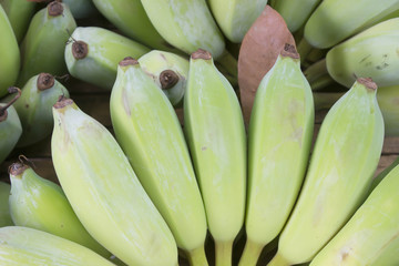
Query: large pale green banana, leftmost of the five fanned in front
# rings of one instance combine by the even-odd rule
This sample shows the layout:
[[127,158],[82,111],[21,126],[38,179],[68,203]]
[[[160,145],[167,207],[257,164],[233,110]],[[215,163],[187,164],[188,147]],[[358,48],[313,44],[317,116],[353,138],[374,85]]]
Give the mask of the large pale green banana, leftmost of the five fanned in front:
[[89,234],[127,265],[176,266],[173,235],[113,135],[71,99],[53,116],[54,170]]

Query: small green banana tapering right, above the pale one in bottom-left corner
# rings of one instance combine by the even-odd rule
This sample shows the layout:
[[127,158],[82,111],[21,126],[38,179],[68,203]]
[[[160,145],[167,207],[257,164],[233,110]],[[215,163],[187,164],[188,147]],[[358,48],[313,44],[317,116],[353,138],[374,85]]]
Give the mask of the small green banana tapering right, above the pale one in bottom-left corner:
[[85,246],[105,258],[111,257],[111,253],[79,222],[59,185],[39,176],[21,162],[10,165],[9,175],[9,206],[16,225],[44,231]]

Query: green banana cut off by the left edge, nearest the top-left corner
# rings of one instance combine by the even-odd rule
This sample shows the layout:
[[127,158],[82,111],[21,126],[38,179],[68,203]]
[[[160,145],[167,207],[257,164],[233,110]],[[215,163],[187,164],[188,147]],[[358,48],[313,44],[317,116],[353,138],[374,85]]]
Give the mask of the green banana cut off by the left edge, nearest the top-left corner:
[[20,68],[20,50],[11,23],[0,6],[0,98],[14,85]]

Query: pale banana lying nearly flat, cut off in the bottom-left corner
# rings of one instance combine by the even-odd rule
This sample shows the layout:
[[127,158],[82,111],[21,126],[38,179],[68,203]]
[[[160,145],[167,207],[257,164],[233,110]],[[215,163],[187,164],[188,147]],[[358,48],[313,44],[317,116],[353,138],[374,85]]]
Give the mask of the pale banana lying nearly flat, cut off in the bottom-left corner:
[[0,264],[7,266],[114,266],[74,242],[22,226],[0,228]]

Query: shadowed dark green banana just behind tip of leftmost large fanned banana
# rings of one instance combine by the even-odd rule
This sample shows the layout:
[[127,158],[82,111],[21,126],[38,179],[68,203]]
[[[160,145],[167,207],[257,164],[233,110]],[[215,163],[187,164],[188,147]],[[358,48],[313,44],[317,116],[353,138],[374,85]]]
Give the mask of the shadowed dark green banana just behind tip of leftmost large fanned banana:
[[20,99],[13,104],[22,125],[18,147],[34,144],[51,134],[52,105],[61,95],[68,98],[68,90],[49,73],[40,73],[28,80]]

